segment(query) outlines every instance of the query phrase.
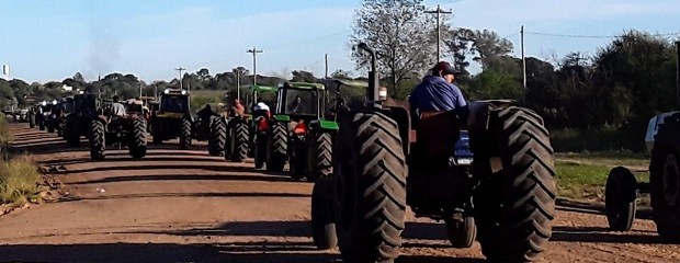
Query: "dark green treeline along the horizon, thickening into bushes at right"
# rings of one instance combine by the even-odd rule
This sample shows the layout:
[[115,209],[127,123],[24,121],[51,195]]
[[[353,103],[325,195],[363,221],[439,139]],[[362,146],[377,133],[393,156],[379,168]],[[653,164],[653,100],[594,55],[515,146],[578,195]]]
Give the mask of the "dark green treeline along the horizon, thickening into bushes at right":
[[[521,59],[509,55],[512,43],[498,38],[496,33],[456,28],[445,42],[452,47],[446,52],[454,57],[454,64],[465,72],[458,84],[469,100],[511,99],[535,110],[544,117],[547,127],[555,132],[554,141],[558,150],[641,151],[648,119],[660,112],[677,108],[677,56],[673,43],[668,38],[630,31],[600,47],[592,56],[574,53],[556,61],[528,57],[526,89],[522,84]],[[453,48],[456,46],[461,48]],[[471,54],[483,69],[477,75],[466,70],[469,66],[466,57]],[[404,75],[398,81],[383,75],[382,83],[390,88],[392,96],[404,99],[426,71],[427,68]],[[343,70],[333,72],[331,77],[352,78]],[[258,83],[263,85],[277,85],[285,80],[258,76]],[[287,80],[319,81],[313,73],[303,70],[293,71]],[[242,67],[216,75],[203,68],[185,73],[182,87],[192,91],[235,93],[237,81],[250,84],[252,75]],[[66,91],[64,87],[70,87],[72,91]],[[110,73],[94,81],[86,81],[80,73],[76,73],[63,81],[31,84],[19,79],[0,79],[0,106],[25,107],[29,99],[49,101],[86,88],[102,91],[103,98],[118,94],[126,99],[139,96],[140,91],[141,95],[152,96],[166,88],[179,87],[178,79],[146,83],[134,75],[122,73]],[[363,90],[344,89],[342,92],[350,105],[363,102]]]

